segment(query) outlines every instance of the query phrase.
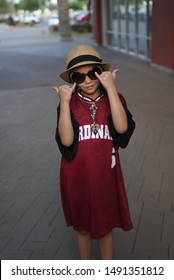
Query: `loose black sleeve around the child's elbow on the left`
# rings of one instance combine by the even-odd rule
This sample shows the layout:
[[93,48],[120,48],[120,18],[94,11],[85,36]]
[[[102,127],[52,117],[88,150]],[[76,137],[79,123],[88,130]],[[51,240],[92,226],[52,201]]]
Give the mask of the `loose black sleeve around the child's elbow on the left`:
[[60,115],[60,108],[57,108],[57,127],[55,132],[55,140],[57,142],[58,148],[60,150],[60,153],[62,154],[62,157],[65,158],[68,161],[73,160],[77,153],[78,148],[78,138],[79,138],[79,125],[77,121],[74,119],[73,114],[71,113],[71,121],[73,125],[74,130],[74,141],[71,146],[67,147],[64,146],[61,142],[60,135],[58,133],[58,123],[59,123],[59,115]]

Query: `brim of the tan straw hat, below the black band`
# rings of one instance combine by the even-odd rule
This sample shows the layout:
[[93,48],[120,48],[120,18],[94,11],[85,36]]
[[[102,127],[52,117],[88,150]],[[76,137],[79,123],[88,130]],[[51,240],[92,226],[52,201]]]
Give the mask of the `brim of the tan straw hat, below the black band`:
[[108,71],[109,68],[110,68],[110,63],[108,63],[108,62],[101,62],[100,63],[100,62],[95,62],[95,61],[84,61],[84,62],[77,63],[75,66],[69,68],[68,70],[66,70],[64,72],[62,72],[60,74],[60,77],[65,82],[72,84],[72,81],[69,78],[69,75],[70,75],[70,72],[71,72],[72,69],[75,69],[77,67],[84,66],[84,65],[94,65],[94,64],[101,65],[104,71]]

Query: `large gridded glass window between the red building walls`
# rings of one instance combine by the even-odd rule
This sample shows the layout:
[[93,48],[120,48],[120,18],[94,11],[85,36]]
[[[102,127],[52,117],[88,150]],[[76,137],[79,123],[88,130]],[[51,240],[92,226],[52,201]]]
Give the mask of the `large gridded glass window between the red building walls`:
[[151,56],[150,0],[103,0],[106,45],[136,56]]

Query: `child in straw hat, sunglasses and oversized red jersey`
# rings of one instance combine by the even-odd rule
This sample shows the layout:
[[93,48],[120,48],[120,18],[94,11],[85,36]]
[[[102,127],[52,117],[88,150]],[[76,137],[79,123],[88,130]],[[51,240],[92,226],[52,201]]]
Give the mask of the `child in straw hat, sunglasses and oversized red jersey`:
[[72,86],[54,87],[62,205],[83,260],[91,259],[92,239],[102,259],[112,259],[113,228],[132,229],[118,148],[127,146],[135,122],[115,86],[118,70],[109,67],[91,46],[76,46],[60,74]]

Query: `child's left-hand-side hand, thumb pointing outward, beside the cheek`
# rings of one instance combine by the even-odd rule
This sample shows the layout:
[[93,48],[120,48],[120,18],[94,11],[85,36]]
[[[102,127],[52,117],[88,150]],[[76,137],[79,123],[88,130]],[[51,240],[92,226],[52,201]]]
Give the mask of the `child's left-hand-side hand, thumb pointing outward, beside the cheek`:
[[69,103],[72,97],[72,93],[75,90],[75,87],[76,83],[74,83],[72,87],[68,85],[63,85],[60,87],[53,87],[53,89],[56,91],[61,102]]

